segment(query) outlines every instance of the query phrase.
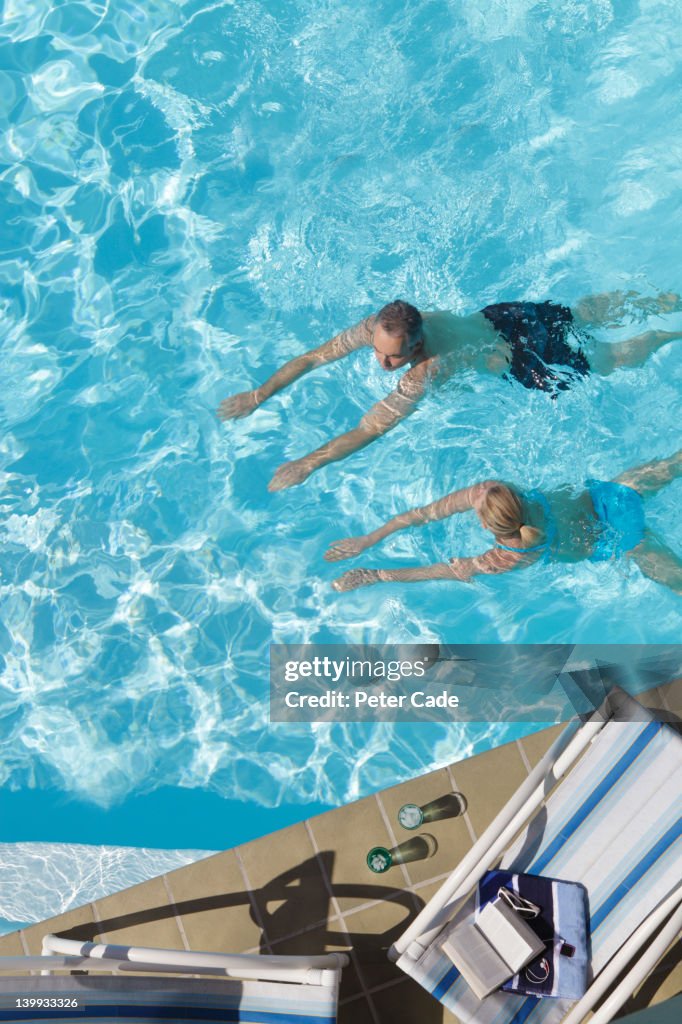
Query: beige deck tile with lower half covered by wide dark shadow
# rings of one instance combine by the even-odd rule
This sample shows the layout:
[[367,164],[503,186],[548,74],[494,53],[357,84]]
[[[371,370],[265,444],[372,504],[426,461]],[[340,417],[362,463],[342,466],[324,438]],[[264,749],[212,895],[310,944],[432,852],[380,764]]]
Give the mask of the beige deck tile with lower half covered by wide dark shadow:
[[[240,847],[239,855],[270,941],[324,923],[335,912],[304,824]],[[331,869],[329,854],[321,858]]]

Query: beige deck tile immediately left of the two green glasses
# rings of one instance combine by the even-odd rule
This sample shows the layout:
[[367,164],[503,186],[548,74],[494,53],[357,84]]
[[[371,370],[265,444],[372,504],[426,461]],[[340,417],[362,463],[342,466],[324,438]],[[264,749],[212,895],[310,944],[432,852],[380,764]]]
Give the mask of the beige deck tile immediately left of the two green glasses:
[[321,814],[310,820],[310,828],[342,911],[383,899],[404,886],[399,868],[374,874],[367,866],[366,858],[373,846],[393,845],[374,797]]

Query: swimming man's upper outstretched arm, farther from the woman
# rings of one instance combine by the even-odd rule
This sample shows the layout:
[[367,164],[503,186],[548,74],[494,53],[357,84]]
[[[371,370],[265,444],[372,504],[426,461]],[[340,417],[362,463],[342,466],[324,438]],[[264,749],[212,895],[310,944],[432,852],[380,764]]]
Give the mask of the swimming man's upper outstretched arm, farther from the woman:
[[295,359],[290,359],[271,377],[268,377],[264,384],[254,388],[253,391],[242,391],[240,394],[230,395],[229,398],[221,401],[218,406],[218,416],[221,420],[238,420],[241,417],[249,416],[254,409],[262,406],[266,398],[282,391],[283,388],[309,373],[310,370],[314,370],[315,367],[342,359],[344,355],[354,352],[364,345],[369,345],[372,340],[373,324],[374,316],[368,316],[359,324],[355,324],[354,327],[348,328],[347,331],[335,335],[324,345],[319,345],[309,352],[304,352],[302,355],[297,355]]

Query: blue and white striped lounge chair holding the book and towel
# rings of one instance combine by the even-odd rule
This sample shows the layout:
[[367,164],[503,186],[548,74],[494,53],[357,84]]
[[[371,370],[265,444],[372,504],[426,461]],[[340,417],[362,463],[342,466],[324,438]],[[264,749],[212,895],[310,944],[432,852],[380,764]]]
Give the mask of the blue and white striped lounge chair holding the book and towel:
[[[501,991],[479,1000],[442,952],[496,863],[586,887],[590,984],[580,1000]],[[617,982],[591,1018],[602,1024],[681,927],[682,736],[615,688],[590,721],[564,730],[390,955],[463,1024],[578,1024]]]

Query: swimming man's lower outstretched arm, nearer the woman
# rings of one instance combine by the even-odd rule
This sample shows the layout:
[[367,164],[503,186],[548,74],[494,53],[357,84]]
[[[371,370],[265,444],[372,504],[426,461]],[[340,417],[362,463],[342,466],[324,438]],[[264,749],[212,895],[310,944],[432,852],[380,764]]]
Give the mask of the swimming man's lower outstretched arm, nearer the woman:
[[392,430],[396,424],[406,416],[410,416],[417,408],[417,402],[424,393],[429,364],[433,361],[433,359],[427,359],[409,370],[395,391],[373,406],[352,430],[340,434],[339,437],[328,441],[327,444],[323,444],[322,447],[302,459],[296,459],[294,462],[287,462],[284,466],[280,466],[269,482],[268,490],[284,490],[285,487],[293,487],[296,483],[302,483],[315,469],[319,469],[330,462],[345,459],[347,455],[358,452],[359,449],[371,444],[377,437]]

